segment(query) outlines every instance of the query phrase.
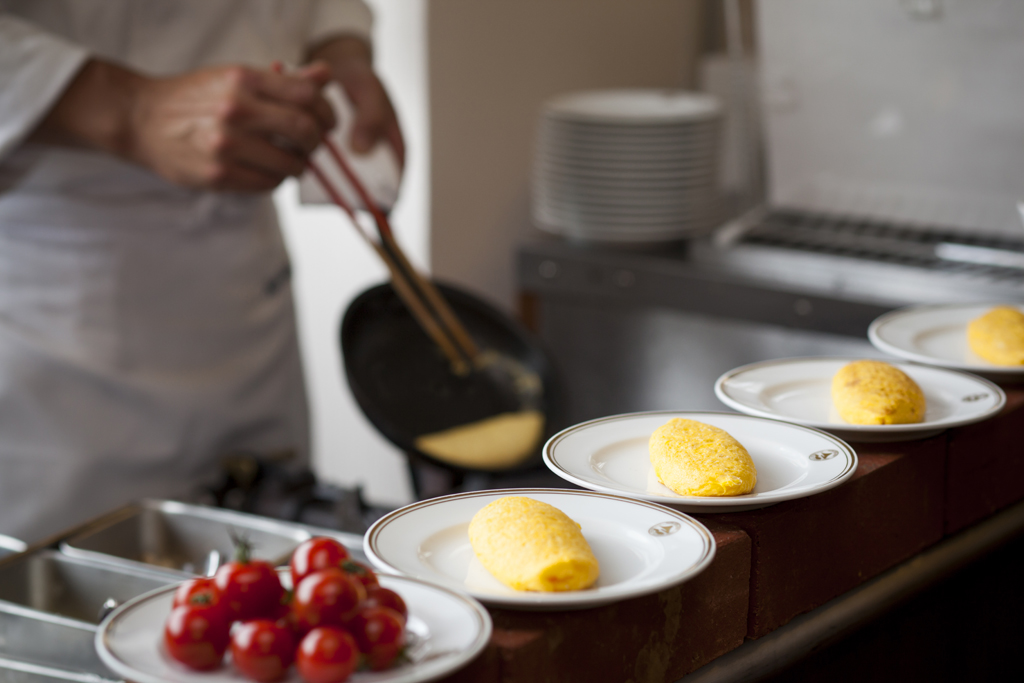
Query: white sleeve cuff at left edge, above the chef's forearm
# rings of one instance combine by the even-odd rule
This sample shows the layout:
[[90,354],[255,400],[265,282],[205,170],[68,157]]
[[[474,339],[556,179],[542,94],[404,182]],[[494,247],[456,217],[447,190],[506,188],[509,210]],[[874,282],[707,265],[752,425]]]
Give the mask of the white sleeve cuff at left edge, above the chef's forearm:
[[88,57],[84,47],[0,13],[0,159],[33,131]]

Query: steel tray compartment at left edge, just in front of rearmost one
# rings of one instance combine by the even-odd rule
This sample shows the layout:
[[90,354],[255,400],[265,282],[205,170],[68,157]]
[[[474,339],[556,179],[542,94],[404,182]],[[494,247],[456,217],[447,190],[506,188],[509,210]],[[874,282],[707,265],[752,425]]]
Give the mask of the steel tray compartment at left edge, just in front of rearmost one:
[[98,624],[104,605],[113,608],[176,581],[170,571],[118,567],[42,550],[0,565],[0,611],[6,602]]

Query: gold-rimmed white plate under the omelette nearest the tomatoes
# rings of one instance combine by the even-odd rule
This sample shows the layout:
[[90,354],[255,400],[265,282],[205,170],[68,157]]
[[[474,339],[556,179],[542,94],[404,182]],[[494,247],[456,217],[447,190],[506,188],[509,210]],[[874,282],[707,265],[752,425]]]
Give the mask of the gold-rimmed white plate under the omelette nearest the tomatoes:
[[[515,591],[473,553],[469,522],[488,503],[525,496],[553,505],[580,524],[600,565],[584,591]],[[510,609],[583,609],[660,591],[692,579],[715,556],[701,524],[667,508],[622,496],[558,488],[508,488],[433,498],[381,517],[364,537],[370,560],[387,571],[432,581]]]

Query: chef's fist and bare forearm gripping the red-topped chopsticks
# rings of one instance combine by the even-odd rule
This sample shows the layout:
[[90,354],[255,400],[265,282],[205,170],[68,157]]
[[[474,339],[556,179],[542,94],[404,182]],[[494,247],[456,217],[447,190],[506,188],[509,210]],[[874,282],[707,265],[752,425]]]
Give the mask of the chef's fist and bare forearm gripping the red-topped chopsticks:
[[217,67],[146,78],[90,60],[34,137],[109,152],[187,187],[266,191],[334,126],[324,65],[283,75]]

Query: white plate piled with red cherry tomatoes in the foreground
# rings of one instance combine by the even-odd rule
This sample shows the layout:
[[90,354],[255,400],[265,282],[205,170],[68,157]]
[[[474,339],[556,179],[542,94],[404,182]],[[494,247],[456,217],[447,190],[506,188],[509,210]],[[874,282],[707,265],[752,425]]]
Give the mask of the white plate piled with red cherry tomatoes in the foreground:
[[288,568],[236,559],[151,591],[99,625],[96,650],[134,683],[419,683],[468,664],[490,638],[473,598],[377,573],[314,538]]

